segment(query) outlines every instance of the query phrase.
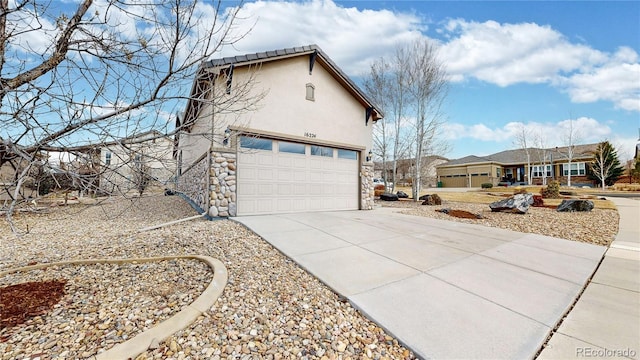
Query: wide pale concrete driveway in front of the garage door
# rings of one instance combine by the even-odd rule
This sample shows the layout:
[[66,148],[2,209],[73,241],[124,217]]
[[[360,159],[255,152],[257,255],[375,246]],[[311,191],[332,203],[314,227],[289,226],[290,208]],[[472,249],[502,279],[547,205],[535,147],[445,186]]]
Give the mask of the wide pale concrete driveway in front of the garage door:
[[534,358],[606,250],[395,211],[234,220],[423,358]]

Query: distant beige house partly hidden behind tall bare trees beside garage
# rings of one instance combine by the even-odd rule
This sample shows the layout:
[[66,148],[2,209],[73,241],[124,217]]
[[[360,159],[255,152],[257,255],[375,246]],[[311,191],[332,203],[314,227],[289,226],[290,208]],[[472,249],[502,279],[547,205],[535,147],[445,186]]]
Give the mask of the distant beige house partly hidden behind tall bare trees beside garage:
[[[436,167],[447,163],[449,160],[445,157],[432,155],[422,158],[422,185],[435,187],[438,182]],[[400,159],[396,163],[396,185],[409,186],[412,183],[413,164],[415,159]],[[393,179],[393,162],[387,161],[386,169],[382,162],[375,163],[375,176],[383,178],[383,172],[386,172],[387,181]]]

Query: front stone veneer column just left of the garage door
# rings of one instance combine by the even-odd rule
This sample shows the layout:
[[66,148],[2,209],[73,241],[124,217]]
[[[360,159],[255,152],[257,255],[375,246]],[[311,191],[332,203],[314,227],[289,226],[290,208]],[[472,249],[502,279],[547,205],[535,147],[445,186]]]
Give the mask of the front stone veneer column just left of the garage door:
[[236,216],[236,154],[228,149],[211,151],[209,215]]

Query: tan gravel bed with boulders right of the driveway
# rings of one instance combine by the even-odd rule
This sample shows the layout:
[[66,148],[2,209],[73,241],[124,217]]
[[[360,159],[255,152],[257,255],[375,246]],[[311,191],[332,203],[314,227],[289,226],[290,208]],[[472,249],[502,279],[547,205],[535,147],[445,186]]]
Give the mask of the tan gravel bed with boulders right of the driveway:
[[[414,201],[380,201],[385,207],[406,209],[403,214],[425,216],[434,219],[458,221],[468,224],[498,227],[557,238],[608,246],[618,233],[618,212],[593,209],[590,212],[557,212],[554,209],[530,207],[526,214],[492,212],[488,204],[443,201],[442,205],[421,205]],[[449,208],[482,215],[482,219],[463,219],[436,210]]]

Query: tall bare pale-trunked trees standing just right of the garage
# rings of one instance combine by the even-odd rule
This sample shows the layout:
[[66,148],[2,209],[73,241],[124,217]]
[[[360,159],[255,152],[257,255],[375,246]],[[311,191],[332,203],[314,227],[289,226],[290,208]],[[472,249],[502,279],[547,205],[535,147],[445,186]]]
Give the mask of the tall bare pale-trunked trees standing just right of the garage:
[[398,46],[390,60],[380,59],[372,66],[365,84],[385,113],[385,122],[376,134],[377,138],[383,137],[375,142],[378,153],[386,154],[387,149],[392,152],[394,186],[398,161],[412,157],[412,193],[417,201],[423,168],[428,165],[423,159],[448,149],[448,143],[439,136],[447,94],[446,72],[435,46],[427,40]]

